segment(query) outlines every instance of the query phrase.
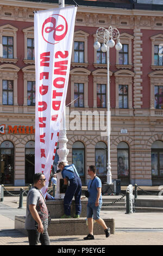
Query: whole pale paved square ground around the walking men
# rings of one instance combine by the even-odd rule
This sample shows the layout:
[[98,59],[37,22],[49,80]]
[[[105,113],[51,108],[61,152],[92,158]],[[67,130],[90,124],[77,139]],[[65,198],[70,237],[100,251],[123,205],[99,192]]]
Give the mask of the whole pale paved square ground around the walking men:
[[[26,215],[18,208],[18,197],[4,197],[0,203],[0,245],[28,245],[28,237],[14,229],[15,215]],[[25,202],[24,198],[24,202]],[[84,241],[83,236],[51,236],[51,245],[57,246],[107,246],[107,245],[163,245],[163,214],[101,211],[101,217],[115,218],[116,231],[106,239],[95,235],[95,240]],[[85,226],[85,235],[87,235]]]

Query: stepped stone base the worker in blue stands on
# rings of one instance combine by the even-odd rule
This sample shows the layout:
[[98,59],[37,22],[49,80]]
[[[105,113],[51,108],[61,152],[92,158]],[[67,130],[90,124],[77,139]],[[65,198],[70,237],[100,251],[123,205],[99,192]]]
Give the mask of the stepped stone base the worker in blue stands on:
[[[71,204],[71,217],[72,218],[60,218],[64,215],[64,200],[47,200],[47,209],[51,214],[51,224],[48,227],[49,236],[66,236],[66,235],[87,235],[88,228],[86,225],[86,204],[87,199],[81,200],[82,202],[82,213],[80,218],[73,218],[75,215],[75,202]],[[103,218],[106,225],[110,228],[111,234],[115,233],[115,220],[114,218]],[[15,229],[21,231],[27,235],[25,229],[26,216],[15,216]],[[104,234],[104,230],[98,223],[95,223],[93,228],[95,235]]]

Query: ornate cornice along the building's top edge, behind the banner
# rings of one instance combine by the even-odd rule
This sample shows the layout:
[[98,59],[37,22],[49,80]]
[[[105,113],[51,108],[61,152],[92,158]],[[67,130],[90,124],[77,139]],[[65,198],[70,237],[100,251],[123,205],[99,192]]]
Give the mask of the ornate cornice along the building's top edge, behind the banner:
[[[3,0],[1,3],[0,13],[3,20],[33,22],[35,10],[58,8],[58,4],[40,4],[32,1]],[[11,15],[5,15],[6,12],[11,13]],[[157,23],[162,23],[162,25],[157,25]],[[108,25],[122,29],[134,29],[136,26],[143,29],[163,30],[162,11],[78,7],[76,26],[108,27]]]

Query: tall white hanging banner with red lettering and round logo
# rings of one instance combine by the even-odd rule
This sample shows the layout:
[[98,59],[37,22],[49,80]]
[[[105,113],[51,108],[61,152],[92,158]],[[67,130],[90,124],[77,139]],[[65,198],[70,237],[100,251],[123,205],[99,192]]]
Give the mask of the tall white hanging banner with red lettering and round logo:
[[70,74],[77,7],[37,11],[35,40],[35,173],[46,177],[46,196]]

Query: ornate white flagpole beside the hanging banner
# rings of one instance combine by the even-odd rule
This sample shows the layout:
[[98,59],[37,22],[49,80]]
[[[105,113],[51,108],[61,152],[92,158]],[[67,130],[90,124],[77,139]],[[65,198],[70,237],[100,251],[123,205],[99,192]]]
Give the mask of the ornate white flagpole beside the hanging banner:
[[[65,7],[65,0],[59,0],[59,8]],[[59,149],[57,150],[57,154],[59,156],[59,162],[67,162],[67,155],[69,150],[67,149],[67,136],[66,136],[66,106],[64,107],[64,112],[62,114],[61,127],[59,131]],[[61,173],[57,174],[57,191],[55,194],[55,199],[63,199],[65,194],[60,193],[60,179],[62,179]]]

